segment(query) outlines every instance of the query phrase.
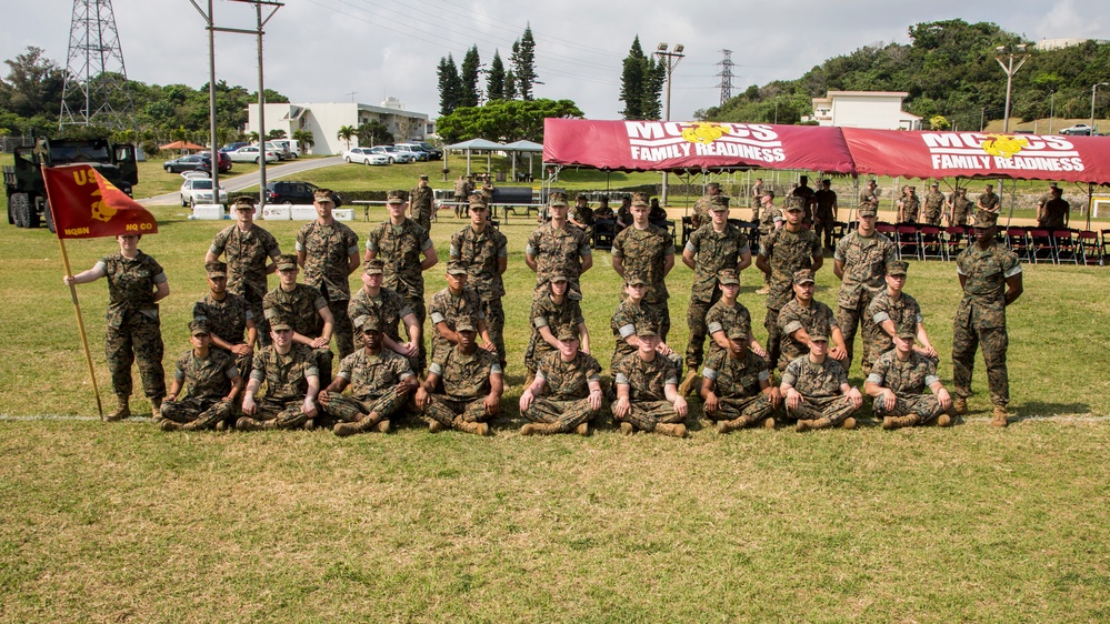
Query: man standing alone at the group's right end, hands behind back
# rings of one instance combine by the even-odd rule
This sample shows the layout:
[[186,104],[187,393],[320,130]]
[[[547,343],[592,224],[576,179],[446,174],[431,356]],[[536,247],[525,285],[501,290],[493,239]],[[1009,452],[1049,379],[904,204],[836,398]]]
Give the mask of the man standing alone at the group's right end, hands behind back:
[[1010,381],[1006,368],[1009,338],[1006,332],[1006,306],[1023,290],[1021,262],[1017,254],[994,240],[997,215],[980,210],[976,213],[976,243],[968,245],[956,259],[956,271],[963,288],[963,299],[956,311],[952,335],[952,384],[956,388],[954,409],[967,412],[971,396],[971,373],[976,351],[982,346],[987,364],[987,385],[994,404],[991,424],[1006,426],[1006,406],[1010,402]]

